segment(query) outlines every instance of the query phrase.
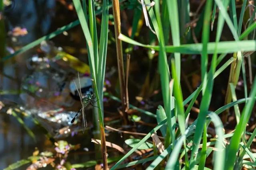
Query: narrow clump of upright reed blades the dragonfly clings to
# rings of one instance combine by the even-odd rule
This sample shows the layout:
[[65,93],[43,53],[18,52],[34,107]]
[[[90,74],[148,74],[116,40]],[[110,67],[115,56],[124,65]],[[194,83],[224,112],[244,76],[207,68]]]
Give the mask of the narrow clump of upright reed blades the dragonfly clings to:
[[89,0],[88,13],[86,10],[86,1],[83,0],[83,6],[78,0],[73,0],[78,19],[80,21],[84,36],[86,39],[86,46],[88,49],[88,59],[90,66],[90,73],[93,79],[93,91],[96,94],[98,109],[94,109],[95,125],[99,123],[101,151],[104,170],[108,169],[107,151],[106,151],[106,139],[104,132],[103,122],[103,85],[106,68],[106,53],[107,53],[107,41],[108,41],[108,0],[103,0],[102,8],[102,23],[100,32],[100,45],[98,48],[98,37],[96,29],[96,17],[94,2]]

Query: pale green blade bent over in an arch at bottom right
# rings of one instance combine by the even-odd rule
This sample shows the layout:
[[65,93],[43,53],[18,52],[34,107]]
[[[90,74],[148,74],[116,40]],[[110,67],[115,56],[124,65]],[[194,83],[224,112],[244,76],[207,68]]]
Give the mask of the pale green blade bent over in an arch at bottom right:
[[218,135],[218,140],[215,145],[218,151],[216,151],[214,155],[214,170],[224,170],[225,149],[223,146],[224,132],[222,121],[214,112],[210,112],[208,115],[211,118],[212,123],[214,123],[216,135]]

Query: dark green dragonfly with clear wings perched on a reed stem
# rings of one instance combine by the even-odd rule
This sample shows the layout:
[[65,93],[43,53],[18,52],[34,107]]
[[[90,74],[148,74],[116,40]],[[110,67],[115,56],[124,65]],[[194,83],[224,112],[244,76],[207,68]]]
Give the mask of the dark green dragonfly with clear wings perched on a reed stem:
[[[80,78],[79,78],[79,74],[78,74],[78,82],[79,82],[79,90],[76,86],[76,82],[75,86],[76,86],[76,90],[79,94],[79,98],[80,98],[80,102],[81,102],[81,109],[76,113],[76,115],[74,116],[74,118],[71,120],[71,123],[74,123],[76,117],[78,116],[78,113],[80,113],[80,111],[82,111],[82,126],[83,129],[87,127],[87,121],[86,121],[86,115],[85,115],[85,111],[84,109],[88,106],[88,105],[92,105],[93,107],[97,107],[94,106],[93,104],[96,103],[98,100],[96,100],[96,94],[90,94],[88,93],[86,96],[82,96],[82,92],[81,92],[81,84],[80,84]],[[99,108],[99,107],[98,107]]]

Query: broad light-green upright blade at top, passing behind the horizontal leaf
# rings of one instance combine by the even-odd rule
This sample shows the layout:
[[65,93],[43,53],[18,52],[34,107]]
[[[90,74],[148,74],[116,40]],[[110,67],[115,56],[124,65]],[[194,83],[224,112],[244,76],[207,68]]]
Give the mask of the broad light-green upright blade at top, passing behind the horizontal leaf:
[[[166,2],[169,12],[169,20],[172,32],[172,42],[174,46],[180,45],[180,28],[178,16],[177,0],[167,0]],[[166,21],[167,22],[167,21]],[[177,74],[177,82],[180,83],[180,53],[174,53],[175,69]]]

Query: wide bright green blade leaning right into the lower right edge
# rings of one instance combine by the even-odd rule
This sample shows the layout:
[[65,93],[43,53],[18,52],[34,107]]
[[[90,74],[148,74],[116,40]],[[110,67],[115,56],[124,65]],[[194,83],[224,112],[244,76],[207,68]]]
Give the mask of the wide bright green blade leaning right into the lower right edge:
[[254,98],[255,96],[256,96],[256,78],[254,78],[254,83],[250,93],[250,98],[252,98],[252,100],[248,100],[248,102],[246,103],[241,114],[240,122],[236,126],[234,136],[231,138],[230,145],[227,148],[227,155],[226,155],[226,162],[225,162],[226,170],[232,170],[232,168],[234,167],[234,163],[236,160],[236,152],[239,149],[241,135],[244,129],[246,128],[246,123],[250,118],[250,114],[252,112],[252,108],[255,103],[255,98]]

